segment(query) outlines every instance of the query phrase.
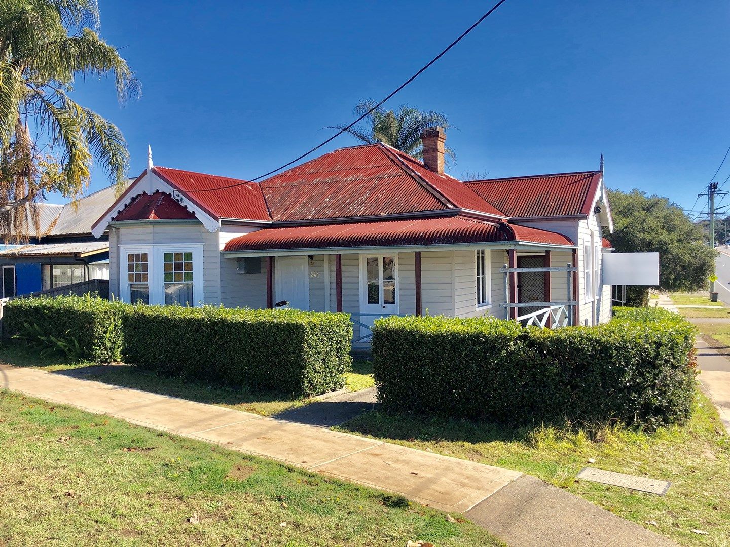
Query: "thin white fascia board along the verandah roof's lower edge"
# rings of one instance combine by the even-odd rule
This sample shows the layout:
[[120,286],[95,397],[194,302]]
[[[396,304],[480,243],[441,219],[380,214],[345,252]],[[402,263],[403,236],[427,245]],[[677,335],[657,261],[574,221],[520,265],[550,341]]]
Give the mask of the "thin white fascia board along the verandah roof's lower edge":
[[260,251],[221,251],[225,258],[245,258],[261,256],[293,256],[293,255],[357,255],[362,252],[414,252],[445,251],[469,249],[530,249],[530,250],[572,250],[575,245],[551,245],[533,243],[531,241],[483,241],[477,243],[459,243],[446,245],[412,245],[410,247],[318,247],[312,249],[262,249]]

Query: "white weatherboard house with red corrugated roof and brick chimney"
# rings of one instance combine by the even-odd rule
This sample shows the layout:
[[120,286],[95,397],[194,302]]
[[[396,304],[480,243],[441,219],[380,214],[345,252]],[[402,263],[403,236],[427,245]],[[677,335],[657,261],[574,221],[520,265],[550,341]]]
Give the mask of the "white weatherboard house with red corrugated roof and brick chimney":
[[[439,128],[423,134],[423,163],[372,144],[263,182],[150,158],[93,227],[109,230],[110,290],[151,304],[285,300],[356,325],[426,313],[607,321],[603,169],[461,182],[443,171],[444,141]],[[368,333],[356,328],[356,341]]]

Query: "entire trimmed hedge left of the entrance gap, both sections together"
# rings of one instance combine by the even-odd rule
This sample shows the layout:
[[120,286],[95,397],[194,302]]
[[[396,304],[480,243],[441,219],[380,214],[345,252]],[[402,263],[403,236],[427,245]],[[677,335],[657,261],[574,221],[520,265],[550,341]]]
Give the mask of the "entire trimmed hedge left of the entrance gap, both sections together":
[[123,360],[167,376],[296,395],[339,389],[351,363],[348,314],[133,306],[62,296],[11,300],[4,322],[11,335],[26,335],[26,325],[37,325],[38,333],[78,344],[82,357],[95,362]]

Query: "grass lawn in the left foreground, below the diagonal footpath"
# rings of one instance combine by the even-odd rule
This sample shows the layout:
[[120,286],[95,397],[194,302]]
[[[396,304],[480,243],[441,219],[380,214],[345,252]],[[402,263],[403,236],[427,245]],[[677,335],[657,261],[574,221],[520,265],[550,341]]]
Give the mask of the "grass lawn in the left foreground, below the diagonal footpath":
[[404,498],[0,389],[0,545],[496,546]]

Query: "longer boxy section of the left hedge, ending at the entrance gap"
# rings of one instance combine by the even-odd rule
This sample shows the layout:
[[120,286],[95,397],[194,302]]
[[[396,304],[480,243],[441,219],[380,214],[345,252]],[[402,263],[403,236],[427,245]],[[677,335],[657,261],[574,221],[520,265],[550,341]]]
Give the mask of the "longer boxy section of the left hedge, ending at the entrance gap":
[[122,323],[126,362],[171,376],[318,395],[351,361],[347,314],[126,306]]

